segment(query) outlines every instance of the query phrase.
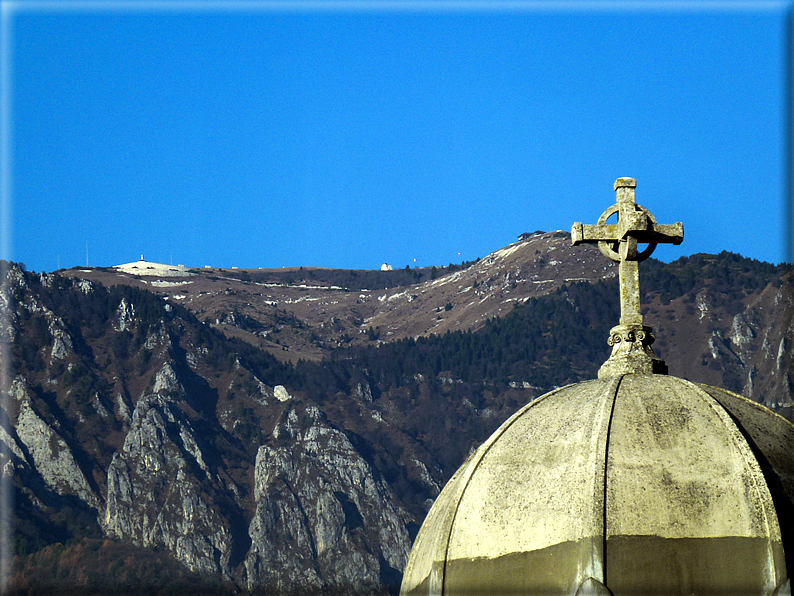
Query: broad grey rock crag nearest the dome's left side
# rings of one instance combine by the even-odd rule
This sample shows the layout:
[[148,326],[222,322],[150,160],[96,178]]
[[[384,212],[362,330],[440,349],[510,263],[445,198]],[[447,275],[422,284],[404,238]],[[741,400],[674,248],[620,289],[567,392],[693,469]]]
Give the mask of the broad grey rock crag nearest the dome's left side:
[[274,435],[282,446],[256,458],[249,588],[378,589],[410,549],[391,490],[314,406],[292,409]]

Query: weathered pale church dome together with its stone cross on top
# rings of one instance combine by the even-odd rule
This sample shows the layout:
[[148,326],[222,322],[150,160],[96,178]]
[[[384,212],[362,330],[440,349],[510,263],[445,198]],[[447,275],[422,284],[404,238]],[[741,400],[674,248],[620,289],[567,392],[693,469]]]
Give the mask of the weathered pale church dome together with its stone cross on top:
[[790,595],[794,425],[667,376],[637,263],[683,227],[656,224],[634,185],[618,179],[617,205],[572,231],[620,263],[599,378],[534,400],[472,453],[419,530],[401,594]]

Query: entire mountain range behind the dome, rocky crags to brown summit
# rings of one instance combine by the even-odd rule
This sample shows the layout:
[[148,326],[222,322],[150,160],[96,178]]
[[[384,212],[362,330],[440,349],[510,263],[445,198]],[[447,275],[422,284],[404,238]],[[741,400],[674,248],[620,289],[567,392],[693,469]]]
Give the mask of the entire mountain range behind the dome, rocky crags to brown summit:
[[[559,232],[388,289],[279,274],[8,269],[14,589],[394,593],[471,449],[592,378],[618,316],[615,267]],[[792,419],[793,281],[730,253],[644,263],[671,374]]]

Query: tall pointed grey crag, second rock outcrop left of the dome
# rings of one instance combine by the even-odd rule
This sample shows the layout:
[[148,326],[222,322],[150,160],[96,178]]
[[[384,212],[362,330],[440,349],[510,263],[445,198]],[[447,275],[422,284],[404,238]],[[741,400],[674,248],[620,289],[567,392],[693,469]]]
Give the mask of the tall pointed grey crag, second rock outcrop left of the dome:
[[229,521],[207,492],[214,478],[195,429],[164,396],[181,389],[169,364],[155,388],[161,393],[138,400],[108,469],[102,527],[119,539],[164,547],[193,571],[228,576]]

